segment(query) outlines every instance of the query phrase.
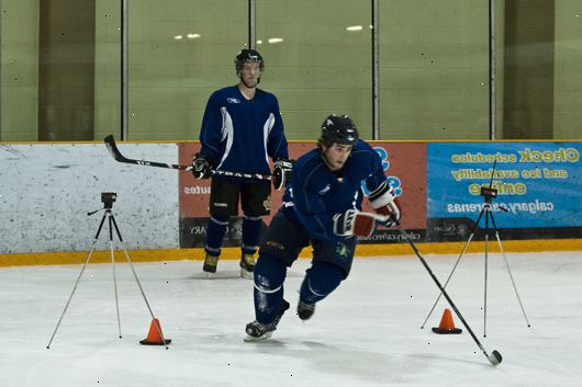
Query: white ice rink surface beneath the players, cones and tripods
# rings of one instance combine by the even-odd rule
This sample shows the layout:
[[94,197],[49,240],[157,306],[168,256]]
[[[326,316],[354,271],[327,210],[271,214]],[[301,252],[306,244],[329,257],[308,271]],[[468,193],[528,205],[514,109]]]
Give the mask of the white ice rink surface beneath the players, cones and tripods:
[[[438,289],[414,257],[357,259],[351,275],[307,322],[294,312],[307,260],[289,271],[290,309],[272,338],[247,343],[253,283],[221,261],[212,280],[193,261],[135,263],[154,315],[172,342],[143,346],[150,315],[127,264],[90,264],[51,344],[81,265],[0,269],[0,386],[582,386],[582,253],[507,253],[531,328],[500,254],[465,255],[447,286],[491,353],[463,332],[439,335],[446,300],[421,325]],[[120,254],[121,258],[121,254]],[[426,255],[445,280],[457,255]],[[486,328],[486,338],[483,329]]]

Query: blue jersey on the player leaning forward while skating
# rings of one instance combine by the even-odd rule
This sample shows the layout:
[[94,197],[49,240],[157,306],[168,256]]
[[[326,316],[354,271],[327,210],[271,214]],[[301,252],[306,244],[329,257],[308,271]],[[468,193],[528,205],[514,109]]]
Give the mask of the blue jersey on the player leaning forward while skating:
[[361,209],[361,182],[373,192],[387,180],[380,156],[358,140],[339,171],[331,171],[316,148],[293,166],[291,184],[283,195],[283,212],[301,223],[315,239],[340,241],[333,231],[333,216],[349,208]]

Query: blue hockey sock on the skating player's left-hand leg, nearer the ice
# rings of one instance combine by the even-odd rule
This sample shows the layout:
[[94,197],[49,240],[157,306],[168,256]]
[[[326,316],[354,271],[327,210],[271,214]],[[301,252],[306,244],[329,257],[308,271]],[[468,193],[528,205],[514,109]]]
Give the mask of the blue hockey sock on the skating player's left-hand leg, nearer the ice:
[[261,253],[255,266],[255,317],[260,323],[270,323],[281,310],[283,281],[287,266],[283,261]]

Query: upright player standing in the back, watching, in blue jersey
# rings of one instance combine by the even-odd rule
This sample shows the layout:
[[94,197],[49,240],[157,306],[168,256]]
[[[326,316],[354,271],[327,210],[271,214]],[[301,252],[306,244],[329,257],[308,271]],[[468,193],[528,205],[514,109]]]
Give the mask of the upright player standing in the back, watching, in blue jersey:
[[290,177],[292,162],[277,98],[257,88],[265,68],[262,57],[254,49],[243,49],[235,58],[235,68],[238,84],[215,91],[208,101],[192,173],[195,179],[212,177],[204,272],[216,272],[228,217],[238,215],[240,201],[240,275],[251,278],[261,217],[270,213],[270,182],[213,171],[269,175],[270,157],[275,161],[273,185],[279,190]]

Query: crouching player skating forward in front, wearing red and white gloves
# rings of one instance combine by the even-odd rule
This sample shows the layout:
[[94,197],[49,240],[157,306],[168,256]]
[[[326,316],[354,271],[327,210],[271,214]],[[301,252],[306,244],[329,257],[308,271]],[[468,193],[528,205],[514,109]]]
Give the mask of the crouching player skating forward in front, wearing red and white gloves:
[[267,339],[277,329],[289,309],[283,299],[287,268],[304,247],[313,247],[313,260],[300,289],[300,319],[311,318],[316,303],[348,276],[357,237],[370,236],[377,221],[374,214],[361,212],[362,181],[372,207],[392,226],[400,209],[380,157],[358,139],[348,116],[328,116],[317,148],[294,164],[281,208],[261,243],[254,281],[256,320],[246,326],[246,340]]

